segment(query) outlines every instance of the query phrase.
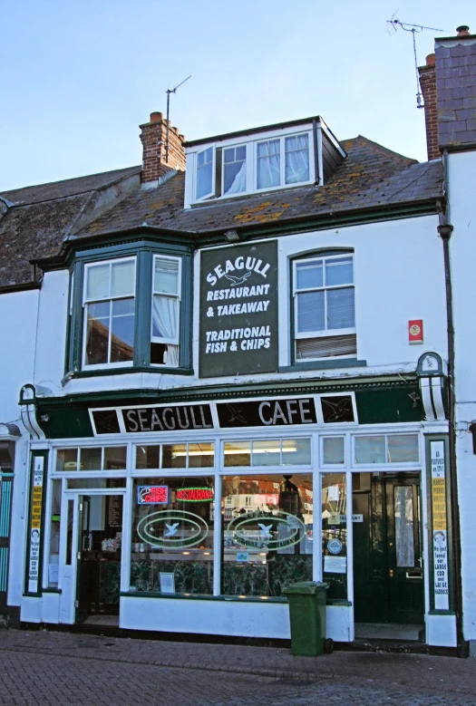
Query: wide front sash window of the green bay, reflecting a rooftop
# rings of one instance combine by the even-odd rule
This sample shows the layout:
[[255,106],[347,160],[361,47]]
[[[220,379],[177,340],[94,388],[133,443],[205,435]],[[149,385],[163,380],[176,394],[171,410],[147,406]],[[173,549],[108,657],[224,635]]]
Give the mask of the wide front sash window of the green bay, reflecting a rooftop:
[[84,268],[84,365],[131,363],[134,357],[135,258]]

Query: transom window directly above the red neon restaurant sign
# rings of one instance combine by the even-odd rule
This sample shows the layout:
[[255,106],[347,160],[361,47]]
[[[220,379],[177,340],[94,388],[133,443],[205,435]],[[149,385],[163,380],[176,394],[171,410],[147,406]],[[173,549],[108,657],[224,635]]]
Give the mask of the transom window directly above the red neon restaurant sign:
[[214,445],[208,442],[136,446],[135,467],[140,470],[213,468],[214,453]]

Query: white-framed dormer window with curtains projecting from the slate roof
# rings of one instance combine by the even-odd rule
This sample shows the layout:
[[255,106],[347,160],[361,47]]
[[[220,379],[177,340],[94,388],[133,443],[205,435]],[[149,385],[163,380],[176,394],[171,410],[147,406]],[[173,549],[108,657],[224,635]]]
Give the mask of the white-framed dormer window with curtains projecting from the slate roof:
[[189,142],[185,208],[209,199],[321,186],[344,158],[320,118]]

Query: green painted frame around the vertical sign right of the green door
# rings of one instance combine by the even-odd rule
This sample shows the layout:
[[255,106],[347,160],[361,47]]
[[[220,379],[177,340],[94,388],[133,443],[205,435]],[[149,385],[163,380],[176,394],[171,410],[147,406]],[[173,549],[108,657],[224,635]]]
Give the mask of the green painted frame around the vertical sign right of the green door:
[[[426,504],[428,528],[428,578],[430,585],[430,614],[446,615],[454,613],[454,565],[452,551],[452,503],[451,503],[451,483],[450,483],[450,441],[448,434],[424,434],[425,457],[426,457]],[[444,441],[444,477],[446,480],[446,523],[447,523],[447,546],[448,546],[448,598],[449,609],[440,610],[434,607],[434,563],[433,563],[433,538],[432,538],[432,456],[430,451],[431,441]]]

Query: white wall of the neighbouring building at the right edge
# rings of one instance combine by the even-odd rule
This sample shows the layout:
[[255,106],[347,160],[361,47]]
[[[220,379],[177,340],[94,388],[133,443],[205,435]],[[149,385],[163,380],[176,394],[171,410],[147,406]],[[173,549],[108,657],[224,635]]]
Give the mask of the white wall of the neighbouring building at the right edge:
[[476,640],[476,456],[468,430],[476,420],[476,152],[448,162],[455,330],[456,460],[461,522],[463,632]]

